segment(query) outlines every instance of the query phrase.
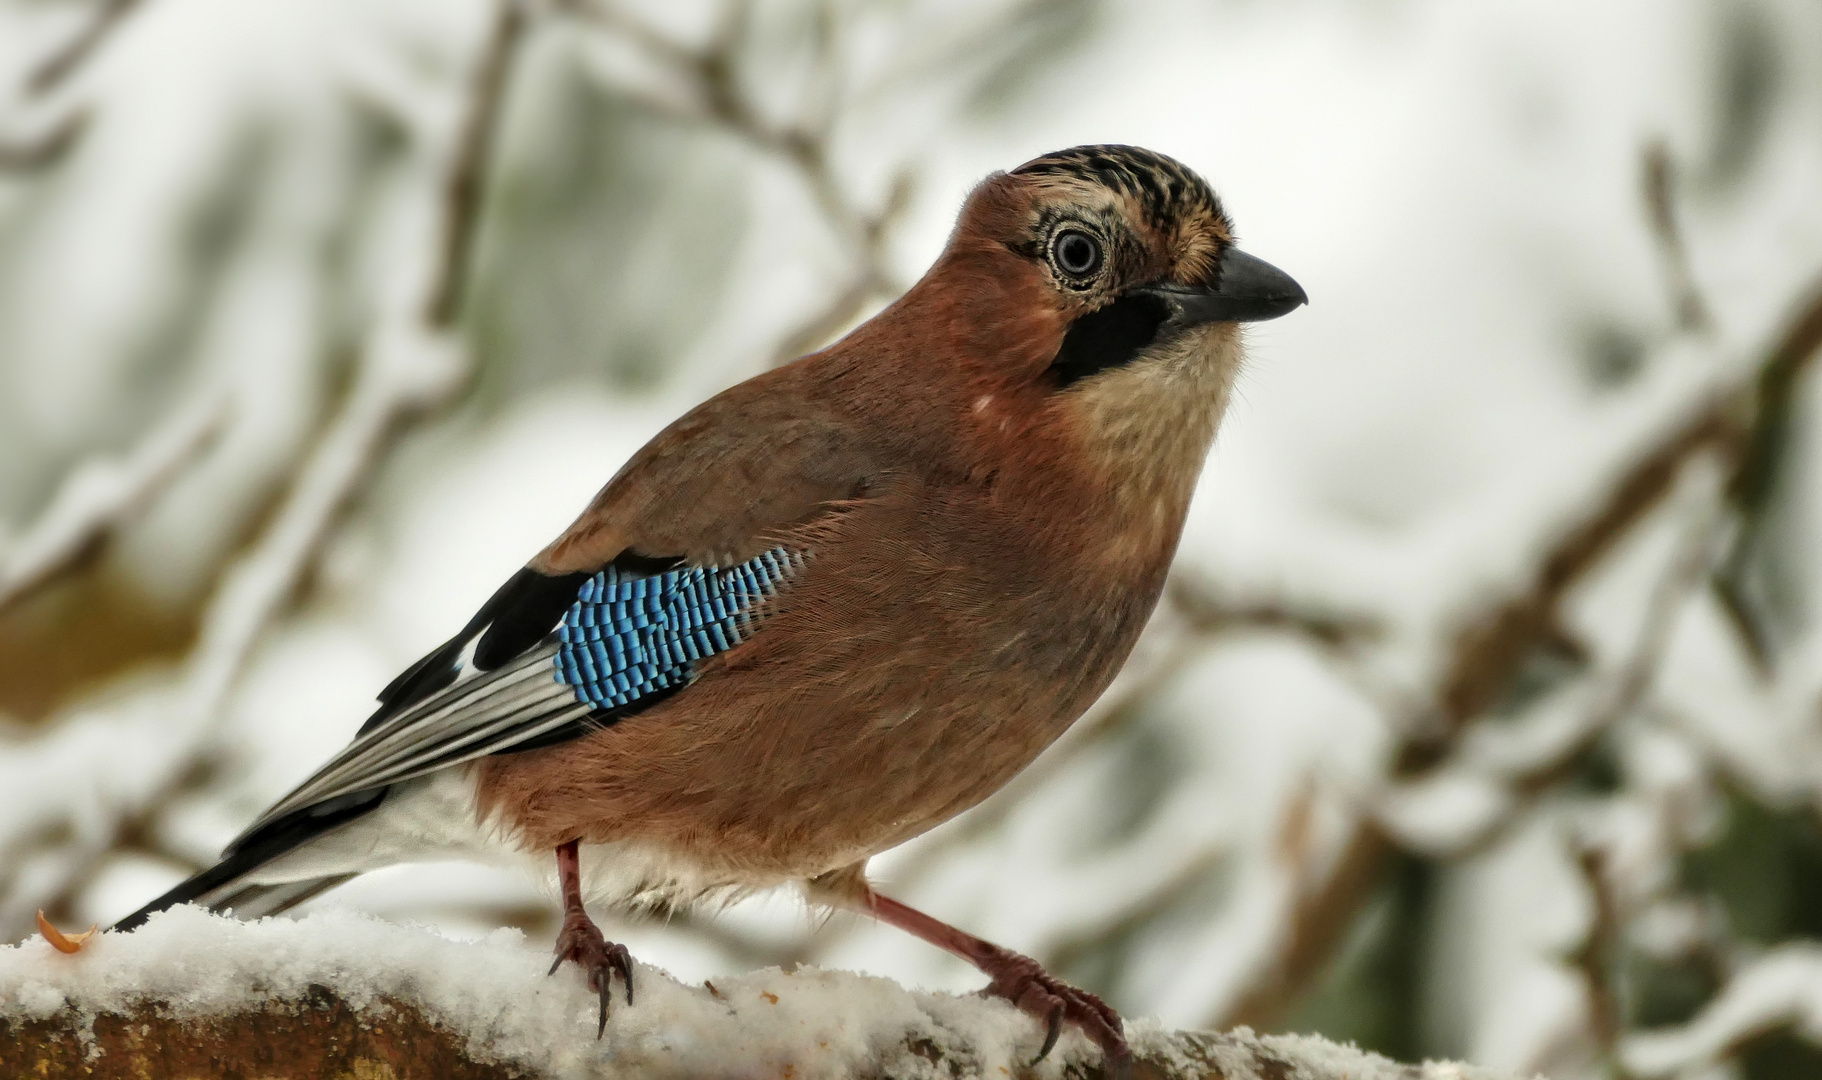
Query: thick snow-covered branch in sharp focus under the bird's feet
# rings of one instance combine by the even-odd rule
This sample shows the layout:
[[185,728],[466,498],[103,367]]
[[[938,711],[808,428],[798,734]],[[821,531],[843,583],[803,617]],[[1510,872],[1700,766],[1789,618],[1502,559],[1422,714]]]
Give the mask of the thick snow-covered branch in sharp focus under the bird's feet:
[[[640,967],[596,1038],[596,998],[517,931],[459,943],[346,912],[237,923],[195,909],[64,954],[0,949],[0,1033],[26,1075],[261,1076],[1100,1076],[1066,1034],[978,996],[776,967],[683,985]],[[1131,1025],[1135,1076],[1500,1080],[1401,1065],[1312,1036]]]

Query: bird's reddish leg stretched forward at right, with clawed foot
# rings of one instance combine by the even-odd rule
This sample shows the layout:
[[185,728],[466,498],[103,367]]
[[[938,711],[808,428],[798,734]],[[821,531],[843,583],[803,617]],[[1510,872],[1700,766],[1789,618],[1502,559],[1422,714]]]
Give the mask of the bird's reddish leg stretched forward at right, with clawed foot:
[[1126,1045],[1126,1029],[1121,1024],[1121,1014],[1095,994],[1071,987],[1044,971],[1029,956],[1000,949],[993,942],[984,942],[966,931],[958,931],[915,907],[898,903],[891,896],[880,896],[873,889],[865,891],[862,903],[880,922],[916,934],[931,945],[947,949],[973,963],[991,980],[986,993],[1006,998],[1013,1005],[1044,1020],[1049,1029],[1044,1033],[1044,1049],[1039,1051],[1037,1060],[1044,1060],[1049,1055],[1049,1049],[1057,1045],[1057,1036],[1062,1033],[1062,1024],[1070,1022],[1100,1045],[1108,1055],[1110,1067],[1124,1069],[1130,1064],[1131,1049]]

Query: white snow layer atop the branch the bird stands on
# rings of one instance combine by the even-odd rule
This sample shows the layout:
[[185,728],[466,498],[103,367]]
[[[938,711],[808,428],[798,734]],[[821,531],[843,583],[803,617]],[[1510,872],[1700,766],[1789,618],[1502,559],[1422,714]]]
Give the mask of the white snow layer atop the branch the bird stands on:
[[[98,1014],[148,1002],[184,1020],[299,1000],[326,987],[357,1011],[415,1007],[430,1024],[466,1034],[470,1056],[550,1078],[725,1075],[731,1065],[745,1075],[804,1078],[871,1071],[864,1065],[887,1065],[898,1076],[1022,1073],[1044,1034],[1006,1002],[907,993],[865,974],[769,967],[716,978],[709,989],[640,963],[634,1004],[616,989],[607,1033],[596,1038],[598,1000],[581,974],[567,967],[550,976],[547,969],[548,953],[510,929],[452,942],[350,911],[242,923],[180,907],[131,934],[98,934],[73,956],[38,938],[0,949],[0,1016],[71,1011],[80,1033]],[[907,1047],[926,1042],[944,1067],[916,1064]],[[1193,1065],[1182,1040],[1155,1024],[1135,1025],[1133,1042],[1148,1056]],[[1297,1076],[1408,1076],[1403,1065],[1314,1038],[1264,1038],[1259,1045],[1303,1062]],[[1070,1031],[1035,1075],[1062,1076],[1093,1055],[1088,1040]],[[1228,1075],[1252,1075],[1233,1045],[1217,1047],[1215,1058],[1223,1056],[1241,1065]],[[1485,1075],[1432,1065],[1423,1076]]]

